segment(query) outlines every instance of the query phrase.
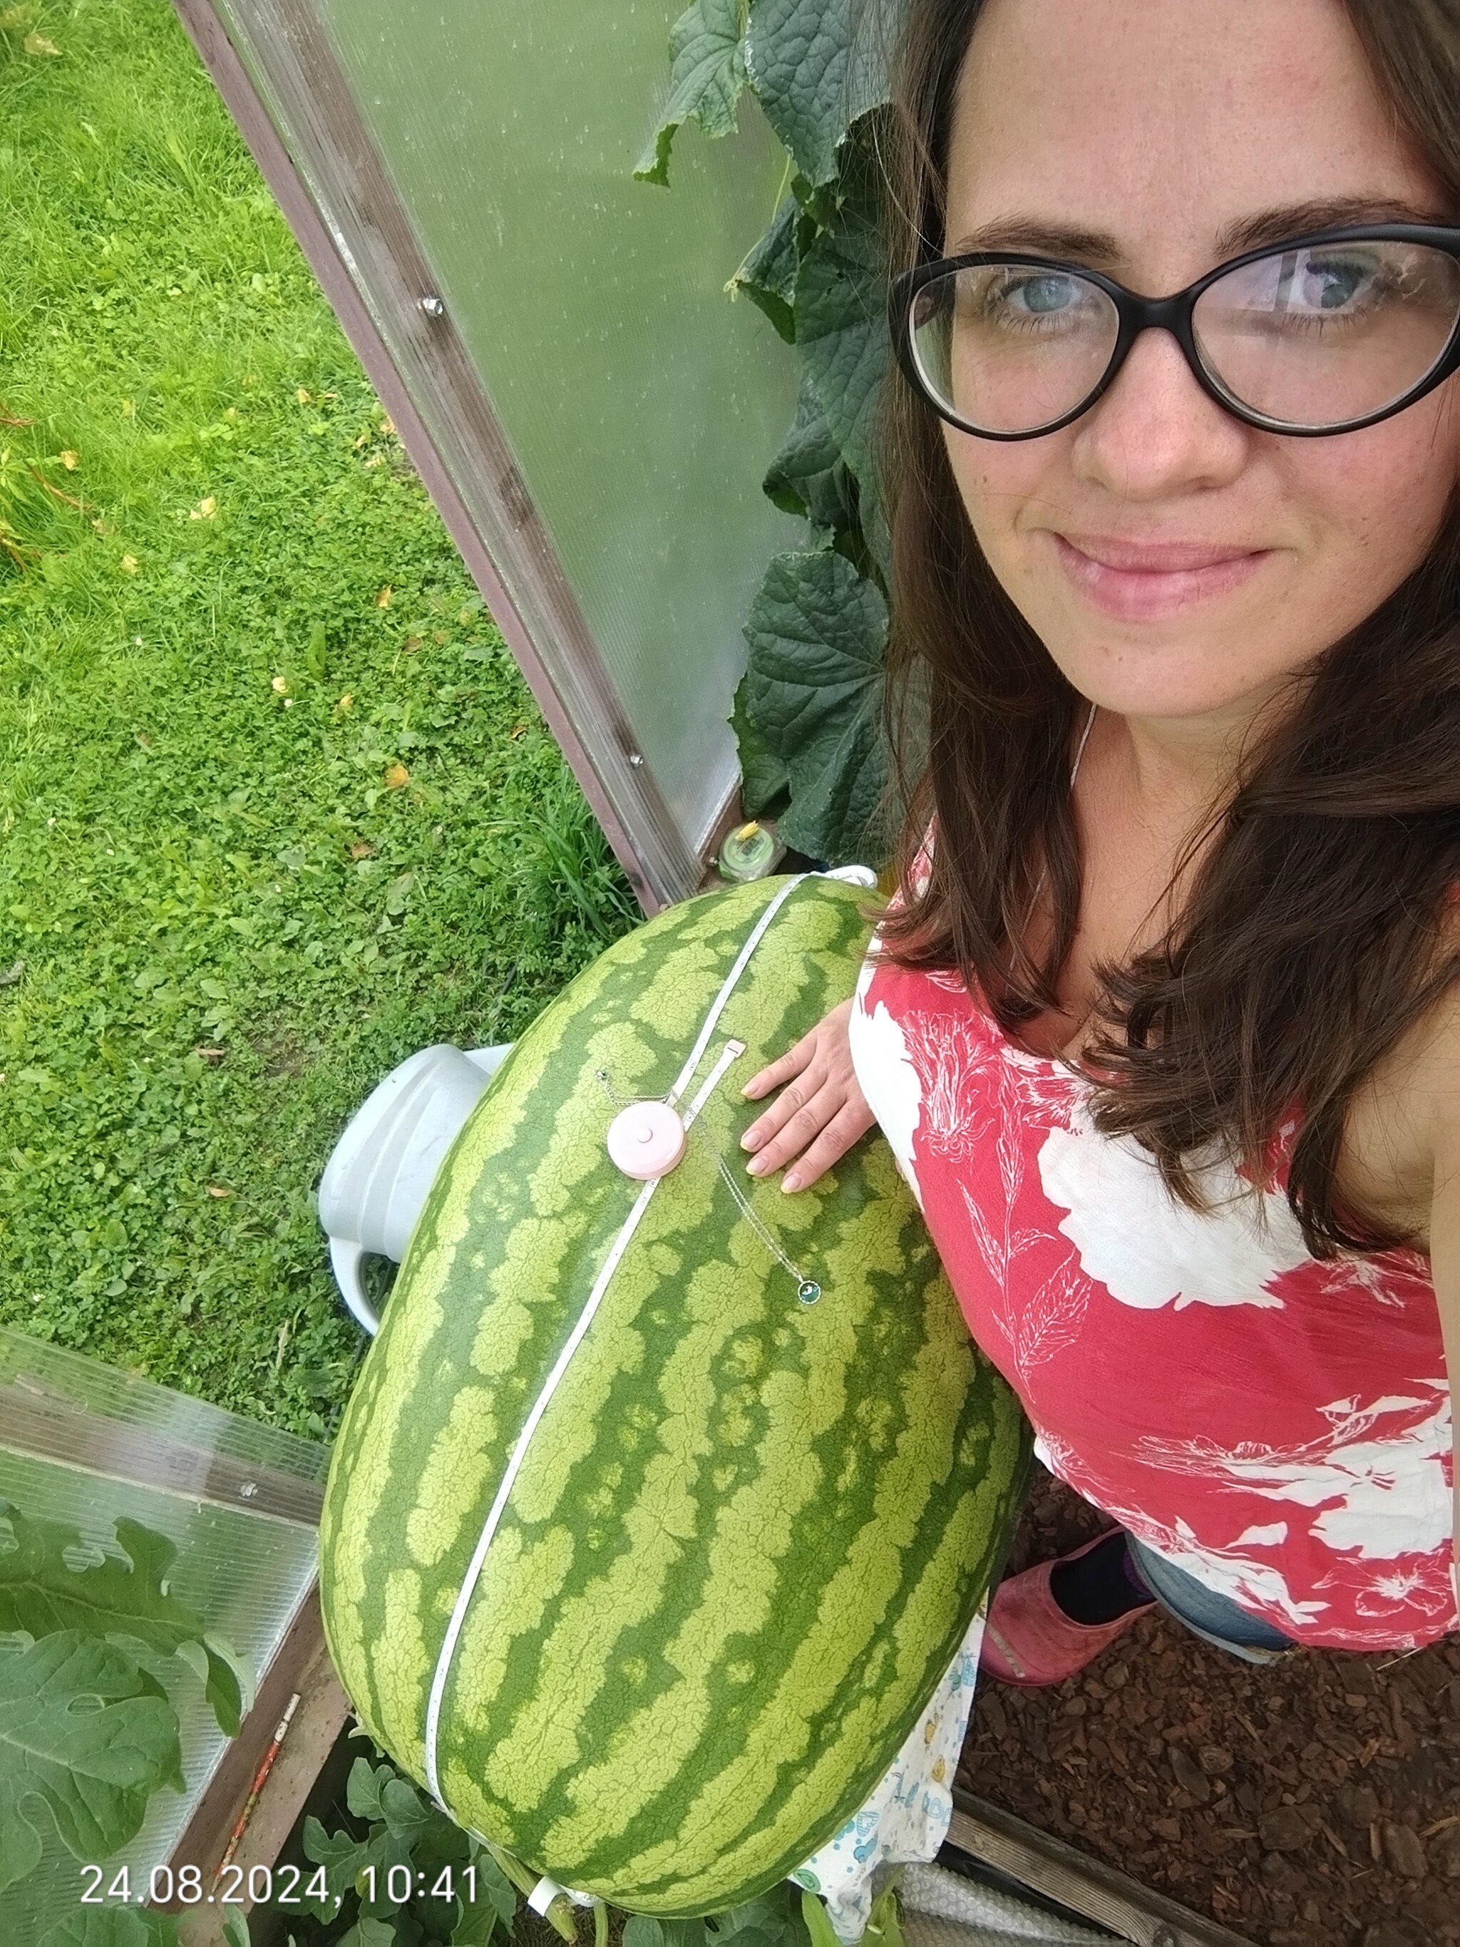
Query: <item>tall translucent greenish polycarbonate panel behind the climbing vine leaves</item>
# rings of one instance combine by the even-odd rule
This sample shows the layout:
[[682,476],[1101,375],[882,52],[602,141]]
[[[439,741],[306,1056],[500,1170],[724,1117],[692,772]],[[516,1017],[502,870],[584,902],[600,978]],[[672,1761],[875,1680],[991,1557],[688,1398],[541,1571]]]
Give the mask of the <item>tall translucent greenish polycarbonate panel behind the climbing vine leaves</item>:
[[[247,0],[234,0],[247,12]],[[792,524],[759,491],[794,358],[726,278],[785,154],[681,130],[631,179],[681,0],[319,0],[356,109],[481,372],[639,748],[697,845],[736,779],[751,594]]]

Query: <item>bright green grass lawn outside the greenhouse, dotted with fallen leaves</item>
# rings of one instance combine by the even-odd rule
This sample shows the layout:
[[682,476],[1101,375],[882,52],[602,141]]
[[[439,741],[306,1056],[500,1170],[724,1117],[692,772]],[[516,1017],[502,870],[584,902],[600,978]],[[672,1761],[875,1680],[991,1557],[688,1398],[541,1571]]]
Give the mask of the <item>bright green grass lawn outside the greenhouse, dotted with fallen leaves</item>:
[[0,1322],[319,1435],[341,1125],[627,888],[165,0],[0,0]]

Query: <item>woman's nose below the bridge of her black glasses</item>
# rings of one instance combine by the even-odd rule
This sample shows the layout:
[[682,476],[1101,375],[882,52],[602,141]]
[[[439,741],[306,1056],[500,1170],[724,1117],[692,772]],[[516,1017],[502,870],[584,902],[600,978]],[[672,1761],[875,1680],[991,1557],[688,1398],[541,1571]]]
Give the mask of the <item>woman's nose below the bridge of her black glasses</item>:
[[1170,331],[1143,331],[1110,391],[1075,424],[1073,463],[1121,500],[1226,487],[1246,465],[1252,430],[1195,380]]

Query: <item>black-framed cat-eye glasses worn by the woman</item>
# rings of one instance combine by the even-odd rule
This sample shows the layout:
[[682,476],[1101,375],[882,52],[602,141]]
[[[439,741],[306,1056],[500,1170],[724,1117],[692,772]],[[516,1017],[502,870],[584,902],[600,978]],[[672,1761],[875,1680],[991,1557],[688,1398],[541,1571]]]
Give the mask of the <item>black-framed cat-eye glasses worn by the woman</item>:
[[1170,331],[1205,393],[1265,432],[1355,432],[1460,370],[1460,230],[1316,230],[1141,298],[1078,263],[940,257],[892,284],[907,380],[964,432],[1034,440],[1112,386],[1143,331]]

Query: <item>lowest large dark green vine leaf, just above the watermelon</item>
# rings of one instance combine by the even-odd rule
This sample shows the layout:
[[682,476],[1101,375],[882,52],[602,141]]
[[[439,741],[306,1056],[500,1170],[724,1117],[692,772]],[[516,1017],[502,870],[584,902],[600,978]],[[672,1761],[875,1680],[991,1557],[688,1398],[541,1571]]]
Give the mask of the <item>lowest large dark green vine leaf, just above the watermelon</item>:
[[843,864],[876,845],[888,781],[888,604],[843,557],[777,555],[746,621],[744,707],[790,777],[781,835]]

